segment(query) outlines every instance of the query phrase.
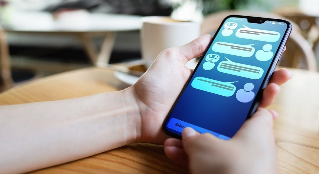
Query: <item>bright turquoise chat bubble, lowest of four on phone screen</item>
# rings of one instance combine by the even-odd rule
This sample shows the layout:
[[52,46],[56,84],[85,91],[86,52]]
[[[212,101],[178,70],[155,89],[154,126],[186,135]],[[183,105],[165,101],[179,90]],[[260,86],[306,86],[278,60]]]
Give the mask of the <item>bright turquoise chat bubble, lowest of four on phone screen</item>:
[[203,90],[209,93],[230,97],[234,95],[236,87],[232,84],[233,82],[222,82],[218,80],[212,80],[205,77],[196,77],[192,81],[192,87]]

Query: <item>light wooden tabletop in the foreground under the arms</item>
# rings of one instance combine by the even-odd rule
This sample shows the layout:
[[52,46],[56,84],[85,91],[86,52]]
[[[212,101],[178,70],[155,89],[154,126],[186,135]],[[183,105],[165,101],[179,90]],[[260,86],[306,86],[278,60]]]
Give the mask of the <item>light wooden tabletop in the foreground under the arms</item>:
[[[284,84],[269,107],[279,113],[275,121],[280,173],[319,173],[319,74],[291,69],[293,79]],[[60,73],[0,94],[0,105],[62,100],[123,89],[114,70],[85,68]],[[130,144],[115,150],[34,173],[187,173],[165,157],[163,147]]]

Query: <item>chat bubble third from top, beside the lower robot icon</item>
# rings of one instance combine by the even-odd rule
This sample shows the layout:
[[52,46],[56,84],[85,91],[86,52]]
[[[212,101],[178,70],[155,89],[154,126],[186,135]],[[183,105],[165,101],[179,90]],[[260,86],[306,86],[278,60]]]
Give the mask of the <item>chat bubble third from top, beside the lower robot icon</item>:
[[[227,58],[225,57],[225,59]],[[249,79],[260,79],[263,75],[263,69],[260,67],[232,62],[229,59],[221,61],[217,66],[217,70],[221,73],[237,75]]]

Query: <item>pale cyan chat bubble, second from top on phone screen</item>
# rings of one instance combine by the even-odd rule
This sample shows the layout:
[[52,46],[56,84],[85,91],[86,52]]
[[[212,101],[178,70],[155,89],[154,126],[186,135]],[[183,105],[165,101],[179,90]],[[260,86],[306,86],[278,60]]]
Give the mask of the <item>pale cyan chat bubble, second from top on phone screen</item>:
[[250,45],[240,45],[240,44],[233,44],[228,42],[216,42],[211,49],[214,52],[220,52],[225,54],[231,54],[235,56],[241,57],[250,57],[254,54],[255,48]]

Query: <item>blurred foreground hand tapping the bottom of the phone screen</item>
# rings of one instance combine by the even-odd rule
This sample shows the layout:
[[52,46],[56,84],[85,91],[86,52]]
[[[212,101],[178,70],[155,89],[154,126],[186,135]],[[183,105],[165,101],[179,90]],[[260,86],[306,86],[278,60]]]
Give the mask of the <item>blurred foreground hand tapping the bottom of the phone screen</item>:
[[277,116],[275,112],[259,108],[236,135],[226,141],[185,128],[182,140],[165,141],[165,153],[173,161],[189,166],[191,173],[277,173],[272,129]]

